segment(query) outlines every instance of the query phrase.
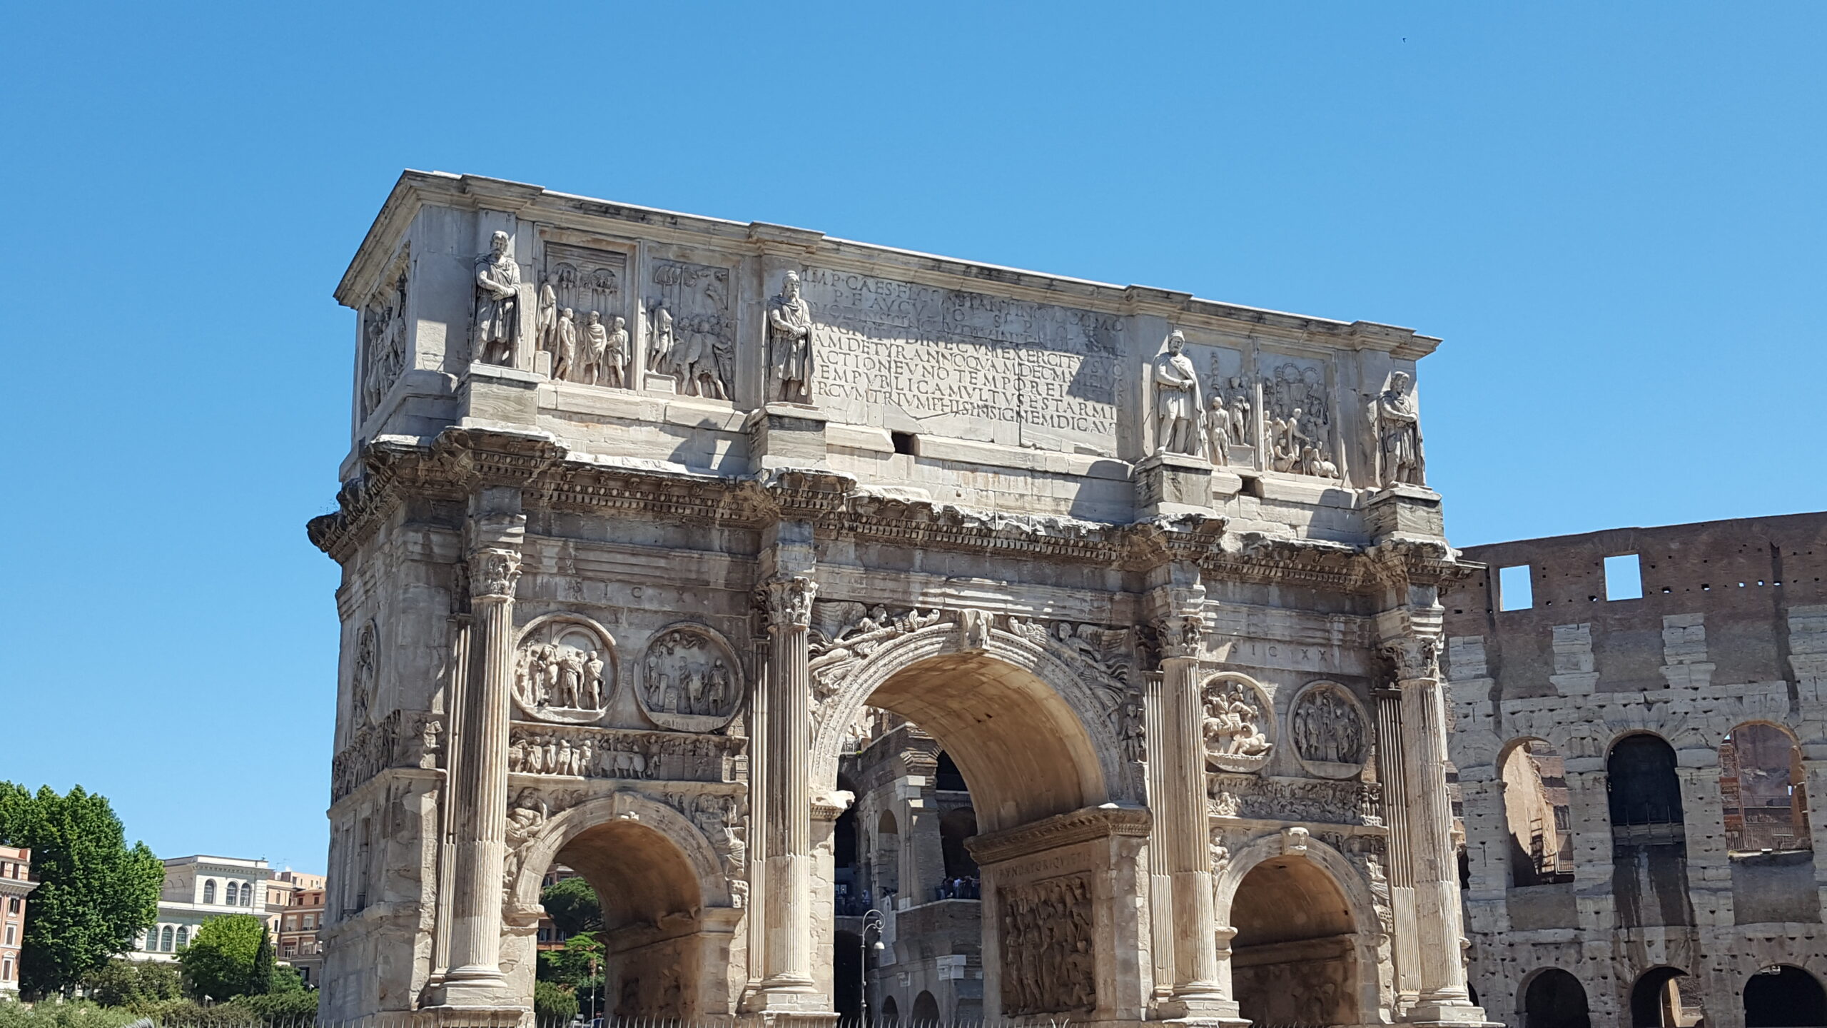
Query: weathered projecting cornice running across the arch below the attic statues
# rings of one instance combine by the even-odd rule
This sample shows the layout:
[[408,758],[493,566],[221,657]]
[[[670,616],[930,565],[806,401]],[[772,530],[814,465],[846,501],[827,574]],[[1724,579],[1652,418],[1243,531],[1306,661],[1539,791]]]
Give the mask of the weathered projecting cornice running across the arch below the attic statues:
[[309,536],[347,562],[407,499],[460,501],[475,488],[521,488],[528,509],[628,514],[760,529],[809,521],[820,538],[921,549],[1100,563],[1146,571],[1197,563],[1208,578],[1346,593],[1396,582],[1445,582],[1473,569],[1440,540],[1385,540],[1363,549],[1328,540],[1228,532],[1224,518],[1180,516],[1129,525],[972,510],[871,492],[855,477],[811,468],[760,476],[691,472],[658,461],[572,455],[543,434],[451,428],[429,448],[376,441],[364,474],[338,492],[338,510]]

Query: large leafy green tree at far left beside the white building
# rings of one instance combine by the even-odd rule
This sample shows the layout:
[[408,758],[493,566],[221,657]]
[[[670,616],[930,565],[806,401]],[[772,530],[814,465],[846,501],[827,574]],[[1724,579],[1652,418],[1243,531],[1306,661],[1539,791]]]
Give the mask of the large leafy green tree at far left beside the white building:
[[159,915],[164,865],[146,843],[126,845],[106,796],[0,781],[0,845],[31,847],[38,880],[18,960],[26,993],[69,993]]

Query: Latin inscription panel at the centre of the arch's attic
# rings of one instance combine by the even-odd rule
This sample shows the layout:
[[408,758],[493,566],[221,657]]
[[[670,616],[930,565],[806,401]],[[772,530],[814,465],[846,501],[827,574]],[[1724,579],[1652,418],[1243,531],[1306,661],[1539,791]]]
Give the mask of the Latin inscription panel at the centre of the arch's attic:
[[817,267],[804,293],[824,404],[1116,435],[1120,316]]

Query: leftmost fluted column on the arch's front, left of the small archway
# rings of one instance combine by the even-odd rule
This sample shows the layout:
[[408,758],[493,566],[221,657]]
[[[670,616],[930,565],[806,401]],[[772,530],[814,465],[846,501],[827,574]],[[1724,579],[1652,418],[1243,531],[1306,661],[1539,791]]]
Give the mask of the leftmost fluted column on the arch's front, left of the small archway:
[[[517,498],[515,498],[517,499]],[[513,688],[513,587],[521,578],[526,519],[490,514],[471,521],[470,688],[451,803],[449,971],[440,1006],[499,1006],[502,863],[508,834],[508,693]]]

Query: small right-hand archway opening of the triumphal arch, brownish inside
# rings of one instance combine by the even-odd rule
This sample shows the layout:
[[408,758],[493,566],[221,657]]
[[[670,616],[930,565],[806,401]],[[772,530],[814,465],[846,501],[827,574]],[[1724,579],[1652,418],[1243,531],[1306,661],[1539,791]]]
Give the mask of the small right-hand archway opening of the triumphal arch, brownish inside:
[[1257,1024],[1356,1024],[1357,924],[1317,863],[1279,856],[1250,869],[1231,900],[1231,990]]

